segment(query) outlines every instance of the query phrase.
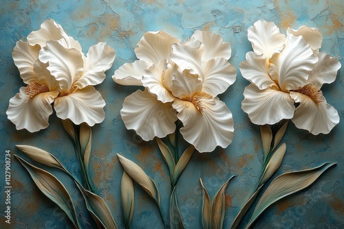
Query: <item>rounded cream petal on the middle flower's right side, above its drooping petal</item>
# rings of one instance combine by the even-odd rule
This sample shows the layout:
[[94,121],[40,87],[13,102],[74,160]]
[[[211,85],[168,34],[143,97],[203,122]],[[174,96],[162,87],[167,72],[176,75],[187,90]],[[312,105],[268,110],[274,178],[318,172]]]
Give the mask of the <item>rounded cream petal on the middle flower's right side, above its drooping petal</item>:
[[237,70],[225,58],[215,58],[204,63],[203,91],[216,97],[235,82]]

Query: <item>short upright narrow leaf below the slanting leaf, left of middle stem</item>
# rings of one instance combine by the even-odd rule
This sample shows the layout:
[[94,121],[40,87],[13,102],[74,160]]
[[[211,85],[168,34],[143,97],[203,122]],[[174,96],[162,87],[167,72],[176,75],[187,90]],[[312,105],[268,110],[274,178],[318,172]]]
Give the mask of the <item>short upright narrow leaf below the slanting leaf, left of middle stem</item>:
[[123,171],[122,180],[120,181],[120,200],[125,218],[125,228],[131,228],[131,222],[133,221],[133,199],[133,180],[126,171]]

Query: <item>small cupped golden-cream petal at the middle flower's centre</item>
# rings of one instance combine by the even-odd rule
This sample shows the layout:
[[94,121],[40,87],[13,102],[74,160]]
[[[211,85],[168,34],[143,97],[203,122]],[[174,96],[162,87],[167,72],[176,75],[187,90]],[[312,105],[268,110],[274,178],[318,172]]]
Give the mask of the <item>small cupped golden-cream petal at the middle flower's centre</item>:
[[175,69],[171,91],[175,97],[190,99],[195,93],[202,91],[202,80],[198,79],[198,75],[191,74],[189,69]]

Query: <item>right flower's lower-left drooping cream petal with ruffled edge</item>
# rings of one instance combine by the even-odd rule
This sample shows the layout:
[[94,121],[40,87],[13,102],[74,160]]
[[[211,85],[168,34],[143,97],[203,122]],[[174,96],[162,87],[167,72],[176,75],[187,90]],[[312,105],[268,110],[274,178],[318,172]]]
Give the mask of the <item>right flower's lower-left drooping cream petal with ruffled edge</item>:
[[257,125],[275,124],[294,115],[294,100],[289,93],[272,88],[259,90],[255,84],[246,86],[241,108]]

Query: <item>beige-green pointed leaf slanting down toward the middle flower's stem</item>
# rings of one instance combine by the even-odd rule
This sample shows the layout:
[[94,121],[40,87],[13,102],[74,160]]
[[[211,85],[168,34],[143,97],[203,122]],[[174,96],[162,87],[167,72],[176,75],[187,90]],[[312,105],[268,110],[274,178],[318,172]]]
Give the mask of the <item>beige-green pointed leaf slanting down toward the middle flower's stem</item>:
[[160,195],[153,180],[135,162],[117,154],[120,164],[128,175],[137,182],[149,196],[160,206]]

